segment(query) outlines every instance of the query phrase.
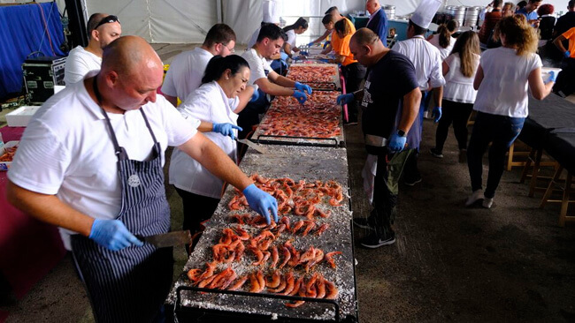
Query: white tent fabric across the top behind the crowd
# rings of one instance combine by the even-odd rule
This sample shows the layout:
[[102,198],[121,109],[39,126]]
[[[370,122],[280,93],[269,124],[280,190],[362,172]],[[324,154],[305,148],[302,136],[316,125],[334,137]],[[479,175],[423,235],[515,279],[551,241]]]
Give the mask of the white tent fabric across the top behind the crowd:
[[[47,2],[49,0],[40,0]],[[86,15],[107,12],[117,15],[122,34],[142,36],[150,42],[202,42],[207,30],[222,21],[234,28],[238,42],[245,43],[262,21],[262,0],[82,0]],[[517,3],[518,0],[514,1]],[[22,0],[0,0],[0,4],[24,3]],[[405,15],[418,6],[420,0],[380,0],[396,6],[395,14]],[[484,6],[491,0],[444,0],[445,5]],[[566,11],[568,0],[543,0],[558,11]],[[64,0],[57,0],[64,11]],[[311,19],[306,34],[318,34],[318,23],[327,8],[337,5],[341,12],[364,10],[365,0],[280,0],[281,16],[289,22],[297,17]],[[304,34],[305,35],[305,34]]]

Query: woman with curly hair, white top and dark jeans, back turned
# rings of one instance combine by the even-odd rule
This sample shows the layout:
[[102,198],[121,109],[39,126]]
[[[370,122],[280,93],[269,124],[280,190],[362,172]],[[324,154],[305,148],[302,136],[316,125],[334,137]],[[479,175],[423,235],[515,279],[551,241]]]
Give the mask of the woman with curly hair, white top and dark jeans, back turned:
[[[467,165],[472,180],[472,196],[465,206],[483,199],[491,207],[503,174],[505,153],[523,128],[527,116],[528,92],[543,100],[555,84],[555,74],[547,84],[541,79],[541,59],[535,54],[539,36],[525,16],[515,15],[499,21],[495,39],[502,47],[487,49],[481,55],[473,87],[478,89],[473,109],[478,111],[472,138],[467,147]],[[489,174],[482,191],[483,154],[489,143]]]

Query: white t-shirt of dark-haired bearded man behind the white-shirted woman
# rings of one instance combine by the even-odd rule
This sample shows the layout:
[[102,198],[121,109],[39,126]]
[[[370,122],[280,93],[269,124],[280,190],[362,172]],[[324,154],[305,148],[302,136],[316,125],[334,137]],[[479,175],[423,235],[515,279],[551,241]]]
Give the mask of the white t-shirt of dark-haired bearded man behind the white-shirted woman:
[[186,101],[188,95],[202,85],[203,73],[213,55],[200,47],[185,51],[173,58],[165,74],[162,92]]

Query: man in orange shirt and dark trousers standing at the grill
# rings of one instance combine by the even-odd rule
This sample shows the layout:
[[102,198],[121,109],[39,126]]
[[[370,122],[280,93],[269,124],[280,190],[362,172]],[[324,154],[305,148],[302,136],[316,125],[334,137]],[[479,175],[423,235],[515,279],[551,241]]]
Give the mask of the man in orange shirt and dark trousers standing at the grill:
[[[340,19],[335,22],[334,35],[332,37],[332,49],[335,52],[335,63],[341,64],[341,73],[345,79],[345,89],[347,93],[356,92],[365,78],[365,67],[357,63],[351,50],[349,50],[349,40],[356,33],[356,27],[349,19]],[[348,103],[348,122],[344,124],[357,124],[357,101]]]

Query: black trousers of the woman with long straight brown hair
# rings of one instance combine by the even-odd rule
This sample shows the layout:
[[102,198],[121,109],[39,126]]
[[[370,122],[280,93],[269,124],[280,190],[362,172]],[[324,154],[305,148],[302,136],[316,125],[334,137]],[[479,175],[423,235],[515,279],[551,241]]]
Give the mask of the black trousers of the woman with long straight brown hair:
[[435,131],[435,150],[443,151],[443,144],[448,138],[449,125],[453,123],[459,149],[467,148],[467,120],[472,114],[473,103],[461,103],[443,99],[441,107],[443,114],[437,131]]

